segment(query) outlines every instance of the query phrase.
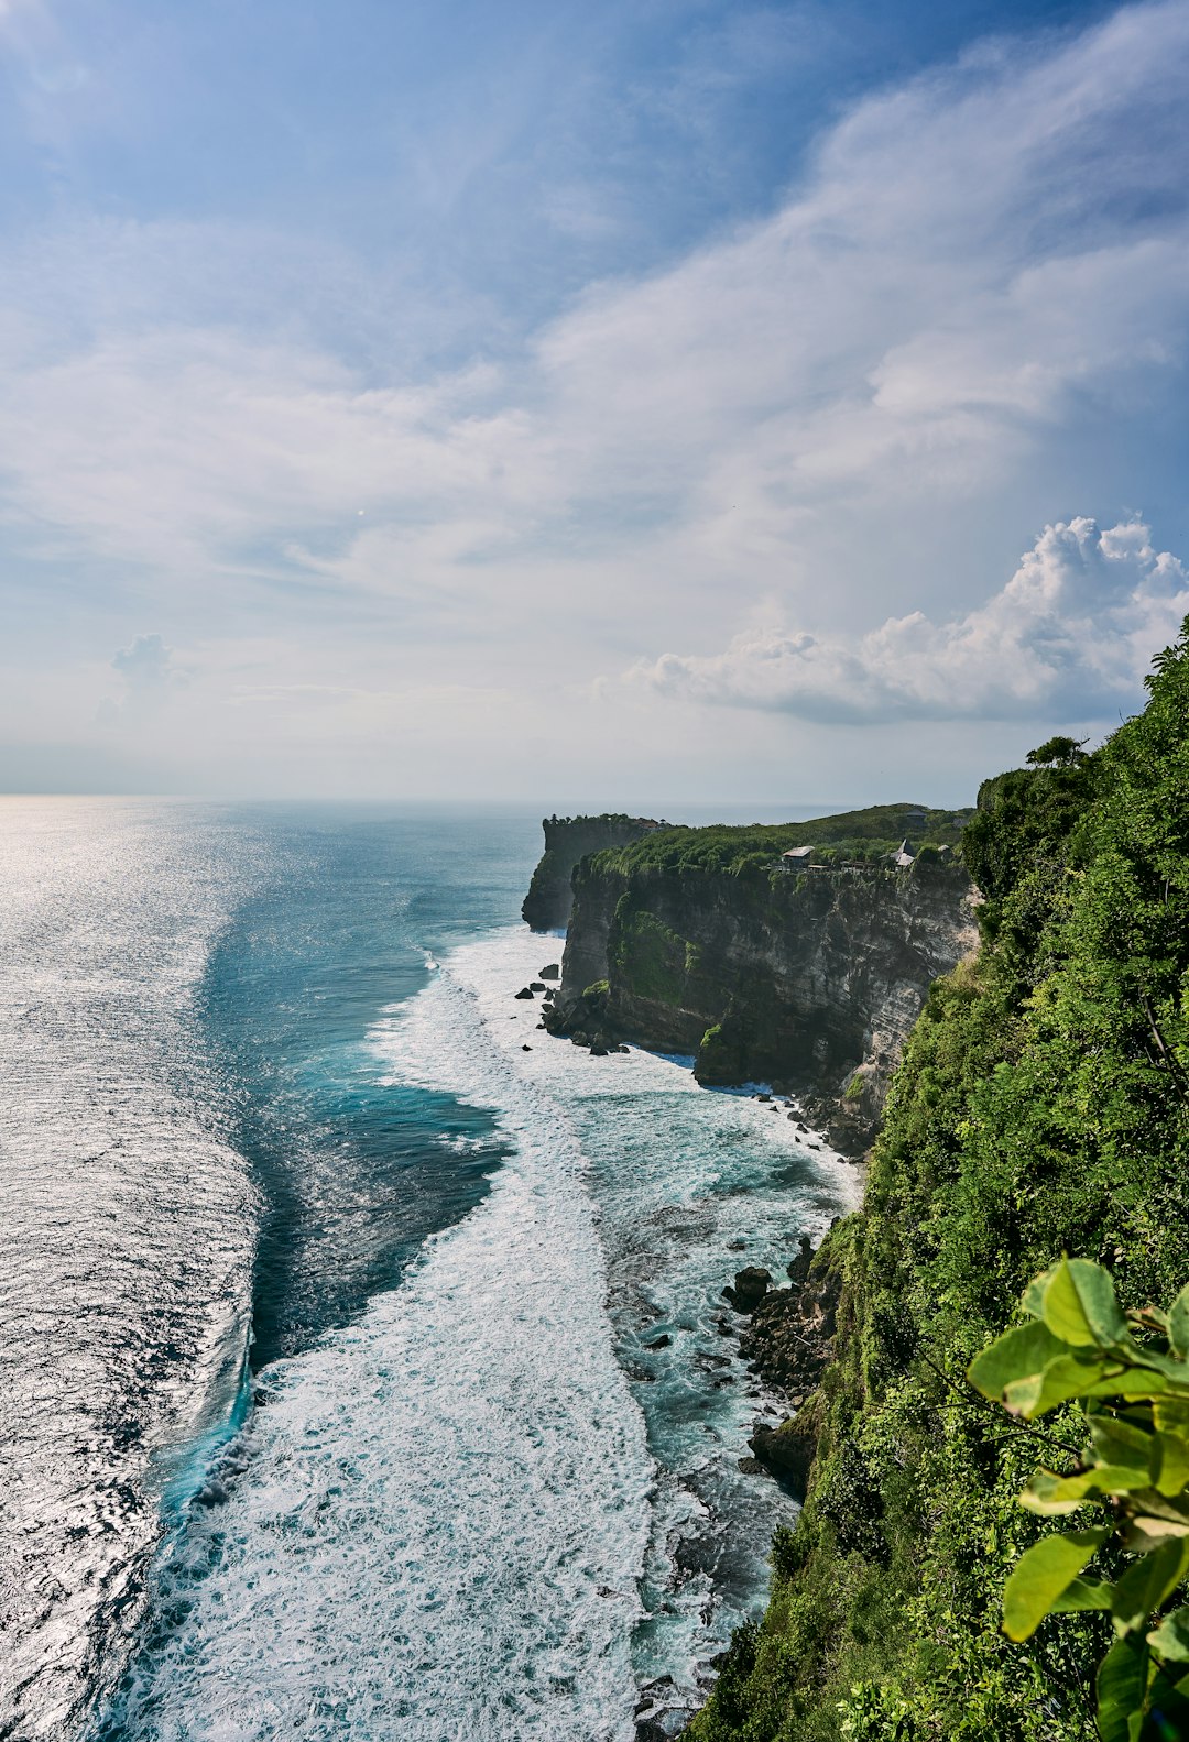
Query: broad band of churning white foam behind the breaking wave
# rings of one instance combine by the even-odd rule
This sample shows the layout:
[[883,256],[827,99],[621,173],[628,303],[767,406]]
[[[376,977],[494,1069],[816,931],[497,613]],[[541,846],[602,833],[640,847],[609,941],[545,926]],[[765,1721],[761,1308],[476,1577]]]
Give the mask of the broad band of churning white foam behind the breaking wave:
[[446,969],[377,1030],[403,1082],[499,1108],[516,1155],[399,1289],[265,1374],[230,1498],[162,1564],[159,1613],[190,1608],[131,1735],[633,1735],[656,1472],[579,1146],[492,1028]]

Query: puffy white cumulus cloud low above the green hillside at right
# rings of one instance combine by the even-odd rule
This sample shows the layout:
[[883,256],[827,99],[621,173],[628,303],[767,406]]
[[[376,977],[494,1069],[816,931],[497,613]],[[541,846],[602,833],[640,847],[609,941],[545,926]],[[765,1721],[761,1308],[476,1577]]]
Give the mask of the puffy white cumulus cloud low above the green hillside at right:
[[889,617],[856,638],[748,631],[724,653],[664,653],[629,681],[685,700],[821,721],[1100,719],[1131,709],[1189,613],[1189,573],[1151,528],[1046,526],[975,611]]

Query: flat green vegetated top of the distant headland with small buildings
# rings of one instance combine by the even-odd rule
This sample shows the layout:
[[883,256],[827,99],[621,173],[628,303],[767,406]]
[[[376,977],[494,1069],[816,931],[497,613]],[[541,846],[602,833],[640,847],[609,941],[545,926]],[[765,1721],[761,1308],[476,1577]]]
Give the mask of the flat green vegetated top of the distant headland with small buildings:
[[610,847],[596,857],[603,869],[678,873],[739,873],[748,866],[772,864],[790,847],[816,847],[821,859],[879,859],[900,847],[905,836],[914,848],[954,847],[973,815],[973,808],[868,805],[866,810],[844,810],[835,817],[811,817],[807,822],[657,829],[629,847]]

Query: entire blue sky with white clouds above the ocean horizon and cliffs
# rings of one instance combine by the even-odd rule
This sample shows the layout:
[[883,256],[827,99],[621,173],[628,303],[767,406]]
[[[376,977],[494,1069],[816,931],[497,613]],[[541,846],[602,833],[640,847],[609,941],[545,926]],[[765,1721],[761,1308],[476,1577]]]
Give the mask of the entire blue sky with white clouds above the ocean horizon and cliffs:
[[0,0],[0,789],[973,801],[1189,613],[1189,0]]

